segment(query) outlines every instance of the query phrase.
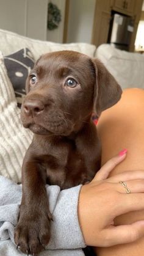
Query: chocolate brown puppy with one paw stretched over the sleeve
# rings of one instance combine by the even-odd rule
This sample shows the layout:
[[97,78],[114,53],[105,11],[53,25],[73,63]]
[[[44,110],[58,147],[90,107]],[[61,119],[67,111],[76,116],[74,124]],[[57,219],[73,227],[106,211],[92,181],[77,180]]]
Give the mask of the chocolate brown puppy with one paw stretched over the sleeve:
[[99,60],[57,51],[38,59],[26,92],[21,120],[34,138],[23,161],[15,243],[37,255],[50,237],[46,183],[67,189],[92,180],[101,161],[92,112],[99,116],[117,103],[121,88]]

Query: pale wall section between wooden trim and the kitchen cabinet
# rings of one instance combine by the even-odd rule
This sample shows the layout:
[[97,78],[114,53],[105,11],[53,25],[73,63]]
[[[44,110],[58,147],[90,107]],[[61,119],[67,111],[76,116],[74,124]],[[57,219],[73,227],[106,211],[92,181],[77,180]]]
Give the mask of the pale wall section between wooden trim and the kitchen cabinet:
[[67,42],[91,43],[96,0],[70,0]]

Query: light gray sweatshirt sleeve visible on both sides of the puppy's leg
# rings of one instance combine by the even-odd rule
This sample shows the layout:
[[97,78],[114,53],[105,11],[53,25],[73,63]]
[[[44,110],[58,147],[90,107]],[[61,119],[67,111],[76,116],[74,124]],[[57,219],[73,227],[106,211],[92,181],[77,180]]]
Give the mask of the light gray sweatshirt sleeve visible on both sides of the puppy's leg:
[[[47,249],[76,249],[85,247],[77,216],[81,185],[60,191],[59,186],[46,186],[51,222],[51,240]],[[21,202],[21,185],[0,176],[0,240],[12,242]]]

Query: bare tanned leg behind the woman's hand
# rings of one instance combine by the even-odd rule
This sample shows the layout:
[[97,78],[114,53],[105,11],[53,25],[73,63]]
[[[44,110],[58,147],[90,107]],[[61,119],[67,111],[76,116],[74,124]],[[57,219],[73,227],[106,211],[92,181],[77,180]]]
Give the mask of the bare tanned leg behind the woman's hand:
[[[103,146],[102,165],[116,152],[128,149],[126,159],[110,175],[126,170],[144,170],[144,90],[124,90],[121,100],[101,115],[98,133]],[[141,219],[144,219],[143,210],[132,211],[115,219],[115,224],[131,224]],[[144,237],[130,244],[97,248],[96,253],[99,256],[144,255]]]

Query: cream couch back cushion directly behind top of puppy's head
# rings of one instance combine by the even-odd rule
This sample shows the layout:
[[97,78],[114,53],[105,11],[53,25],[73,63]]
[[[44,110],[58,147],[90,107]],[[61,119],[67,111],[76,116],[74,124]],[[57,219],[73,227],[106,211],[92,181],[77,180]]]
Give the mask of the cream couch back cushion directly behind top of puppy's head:
[[96,51],[96,46],[88,43],[52,43],[23,37],[22,35],[0,29],[0,51],[2,51],[4,55],[15,53],[15,51],[21,48],[30,49],[35,60],[38,59],[41,54],[51,51],[62,51],[65,49],[79,51],[79,53],[87,54],[89,57],[93,57]]

